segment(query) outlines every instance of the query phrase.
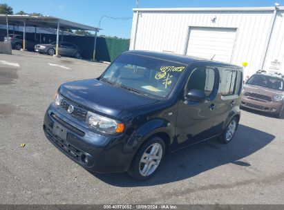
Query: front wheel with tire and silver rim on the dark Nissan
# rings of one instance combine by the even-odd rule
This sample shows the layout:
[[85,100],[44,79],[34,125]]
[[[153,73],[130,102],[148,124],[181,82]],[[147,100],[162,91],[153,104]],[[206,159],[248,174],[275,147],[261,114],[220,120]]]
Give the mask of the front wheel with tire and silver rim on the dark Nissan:
[[151,178],[158,171],[162,160],[164,160],[165,152],[164,141],[160,137],[151,137],[142,144],[135,154],[127,173],[139,181]]

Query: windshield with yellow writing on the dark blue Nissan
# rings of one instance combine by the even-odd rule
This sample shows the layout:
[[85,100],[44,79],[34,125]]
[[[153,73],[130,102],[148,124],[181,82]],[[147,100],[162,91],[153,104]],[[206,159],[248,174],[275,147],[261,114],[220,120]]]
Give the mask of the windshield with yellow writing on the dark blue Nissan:
[[166,97],[185,68],[173,61],[122,54],[106,69],[101,80],[136,93]]

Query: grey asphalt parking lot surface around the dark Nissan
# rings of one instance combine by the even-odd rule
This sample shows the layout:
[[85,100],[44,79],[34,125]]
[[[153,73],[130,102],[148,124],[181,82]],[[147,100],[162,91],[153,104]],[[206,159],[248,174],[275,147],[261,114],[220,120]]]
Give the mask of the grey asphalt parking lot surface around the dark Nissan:
[[243,110],[233,142],[167,155],[146,182],[89,173],[46,139],[42,124],[61,83],[97,77],[107,65],[13,54],[0,54],[1,204],[284,204],[284,119]]

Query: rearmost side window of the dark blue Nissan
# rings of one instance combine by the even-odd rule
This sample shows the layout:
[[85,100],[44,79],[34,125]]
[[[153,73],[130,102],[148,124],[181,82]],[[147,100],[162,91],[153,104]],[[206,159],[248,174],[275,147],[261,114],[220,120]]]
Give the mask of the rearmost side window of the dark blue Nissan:
[[234,95],[236,92],[237,71],[231,69],[223,70],[220,79],[221,95]]

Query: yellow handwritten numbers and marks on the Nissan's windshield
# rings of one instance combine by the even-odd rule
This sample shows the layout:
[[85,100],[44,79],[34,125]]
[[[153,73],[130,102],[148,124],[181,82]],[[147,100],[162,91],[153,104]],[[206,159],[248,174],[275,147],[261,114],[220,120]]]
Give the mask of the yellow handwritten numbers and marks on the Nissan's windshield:
[[164,88],[167,88],[171,84],[172,72],[182,72],[184,66],[161,66],[160,72],[155,75],[155,79],[162,79],[162,84]]

